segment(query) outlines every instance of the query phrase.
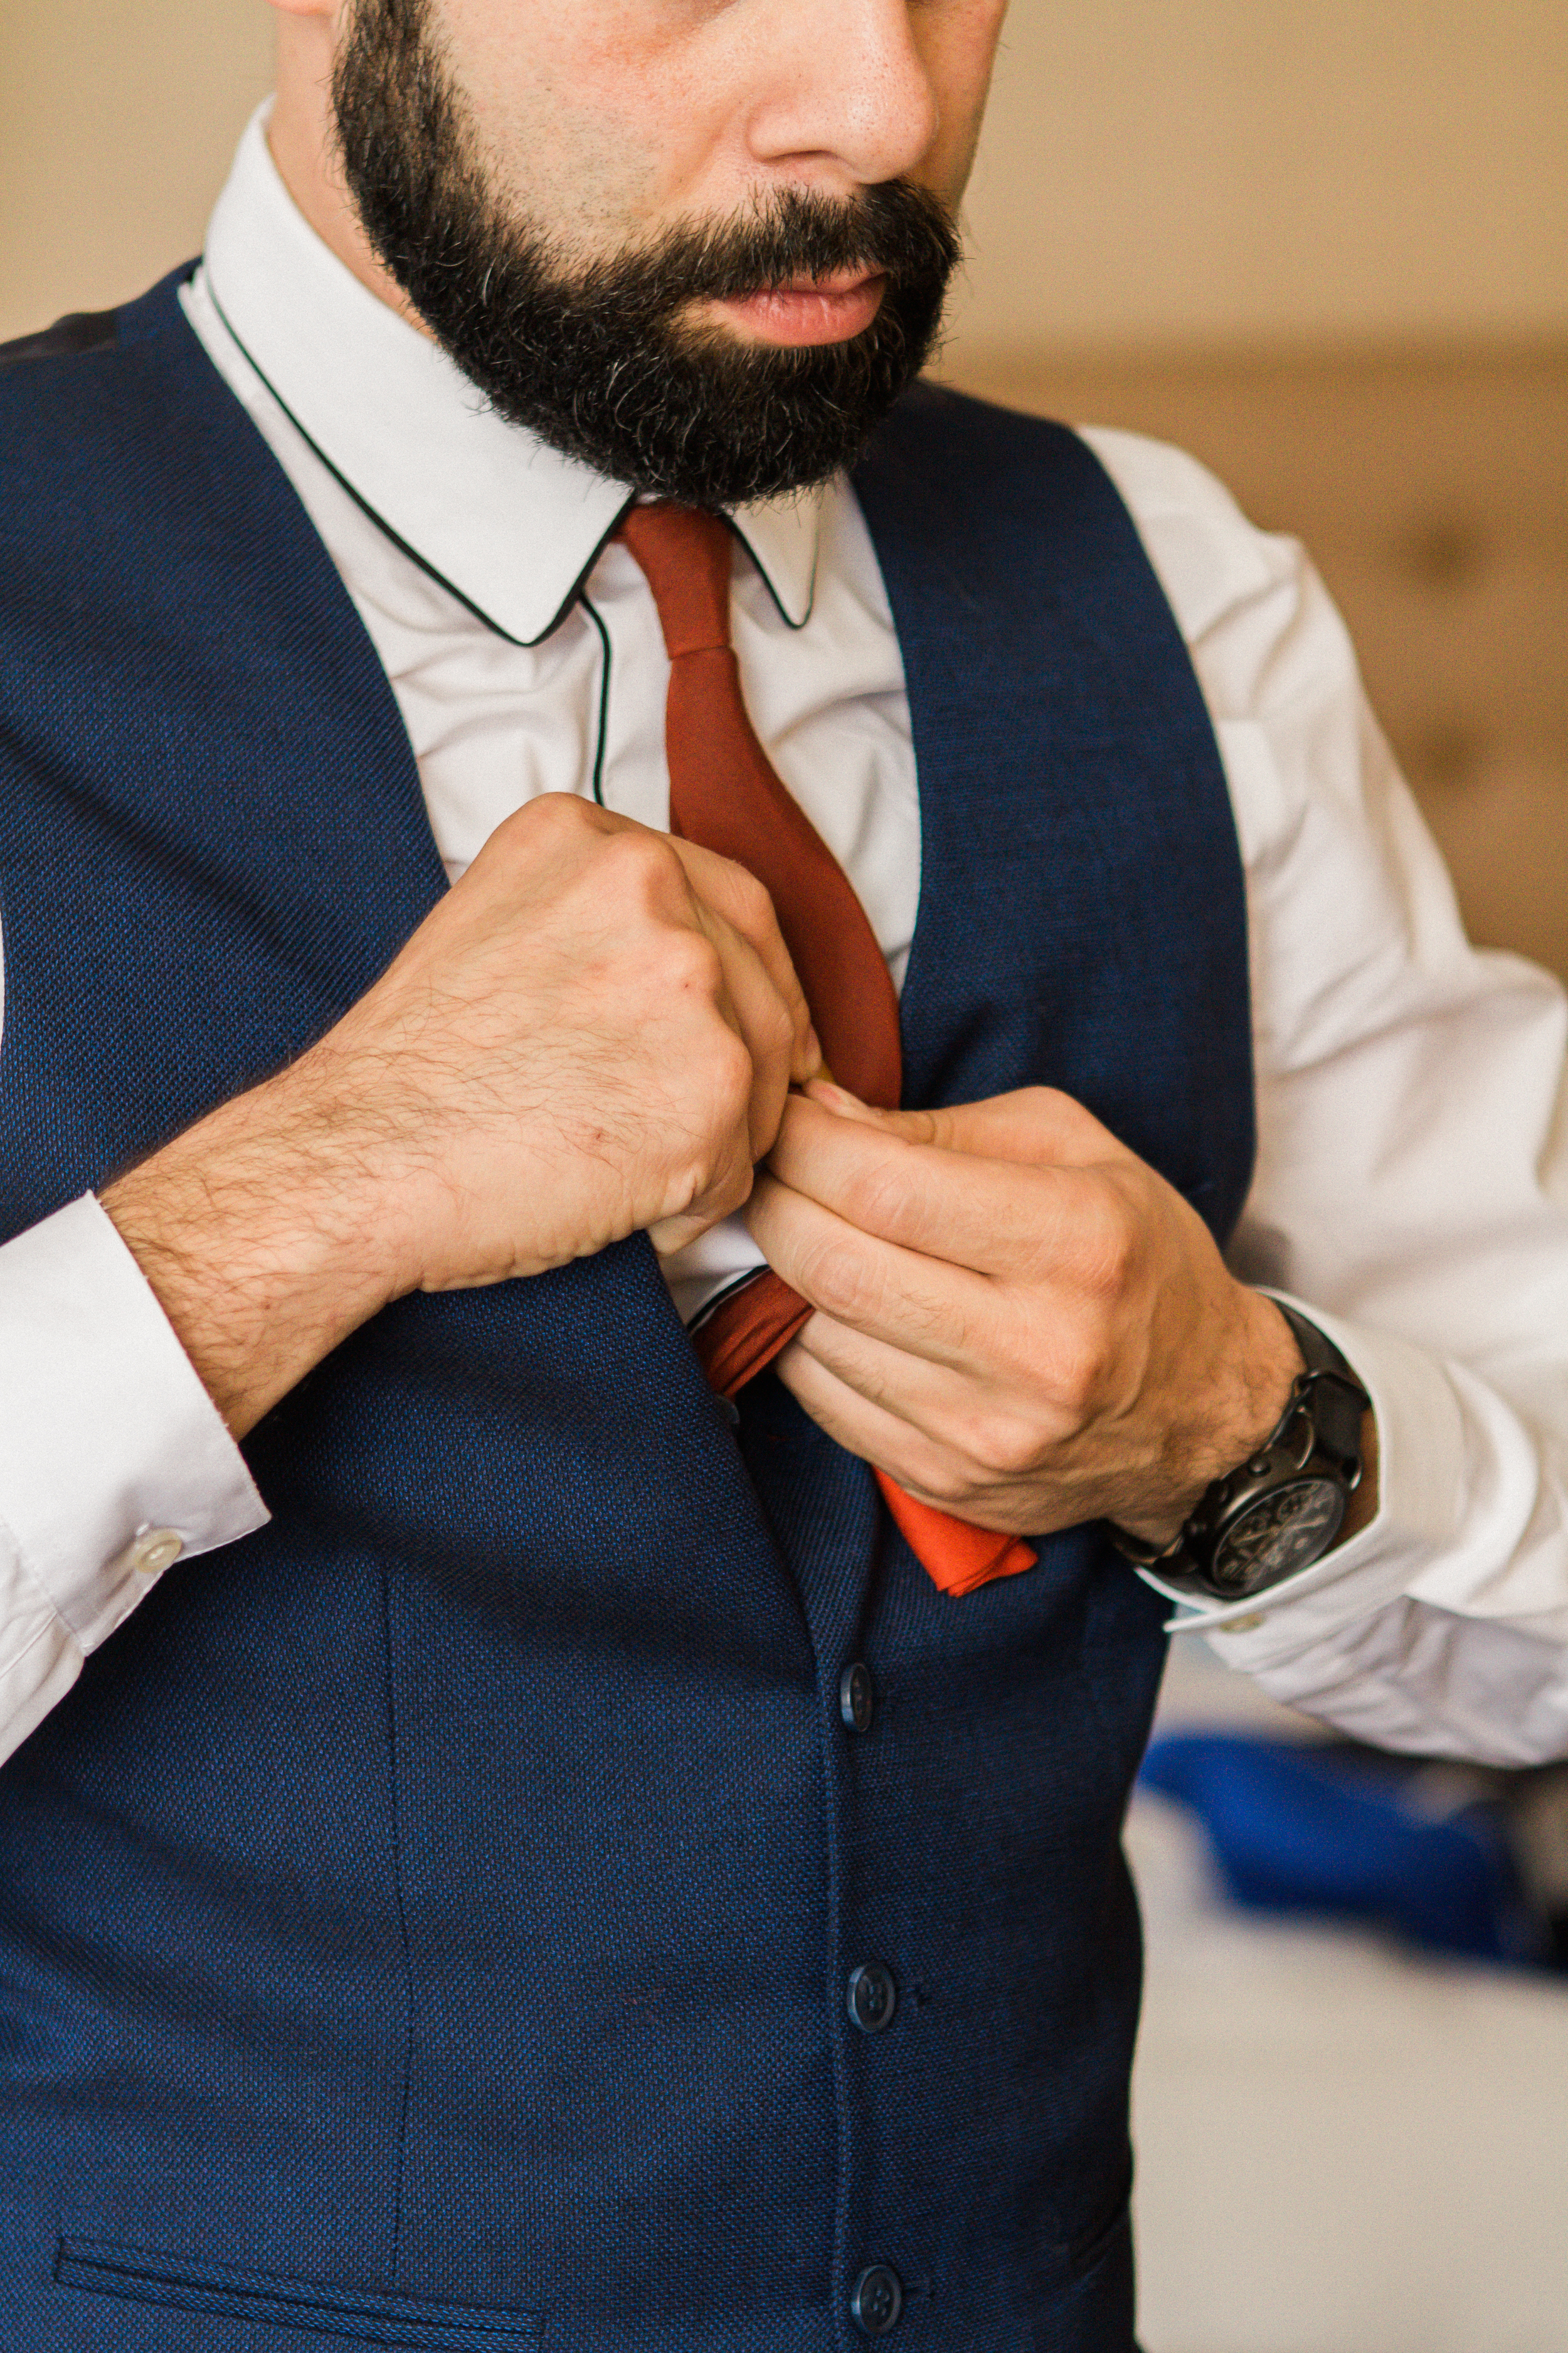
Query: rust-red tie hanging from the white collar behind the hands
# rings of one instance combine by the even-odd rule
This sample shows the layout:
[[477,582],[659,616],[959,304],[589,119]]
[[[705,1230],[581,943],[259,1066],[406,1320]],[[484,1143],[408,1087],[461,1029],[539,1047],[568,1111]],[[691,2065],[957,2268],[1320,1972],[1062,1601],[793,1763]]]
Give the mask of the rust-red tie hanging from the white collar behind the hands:
[[[741,696],[729,635],[733,539],[689,506],[635,506],[621,539],[642,565],[670,652],[665,753],[670,833],[717,849],[766,887],[795,958],[827,1068],[860,1101],[896,1111],[903,1089],[898,998],[853,885],[785,791]],[[693,1332],[703,1372],[733,1398],[795,1339],[811,1306],[771,1268],[731,1292]],[[969,1593],[1034,1562],[1018,1537],[971,1527],[877,1482],[910,1551],[943,1593]]]

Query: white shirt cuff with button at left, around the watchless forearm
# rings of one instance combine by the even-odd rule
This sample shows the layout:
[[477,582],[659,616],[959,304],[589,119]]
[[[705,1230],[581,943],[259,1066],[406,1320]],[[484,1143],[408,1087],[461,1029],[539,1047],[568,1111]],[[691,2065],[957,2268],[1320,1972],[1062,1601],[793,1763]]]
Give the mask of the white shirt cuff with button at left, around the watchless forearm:
[[167,1567],[266,1518],[92,1193],[0,1247],[0,1692],[38,1720]]

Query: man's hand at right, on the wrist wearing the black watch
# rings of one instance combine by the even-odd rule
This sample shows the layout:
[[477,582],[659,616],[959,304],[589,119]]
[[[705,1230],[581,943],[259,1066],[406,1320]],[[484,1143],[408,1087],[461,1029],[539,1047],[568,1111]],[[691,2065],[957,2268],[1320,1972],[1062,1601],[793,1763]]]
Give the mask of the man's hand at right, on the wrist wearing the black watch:
[[1107,1518],[1164,1546],[1302,1369],[1180,1193],[1046,1087],[884,1113],[818,1082],[748,1224],[818,1308],[780,1379],[980,1527]]

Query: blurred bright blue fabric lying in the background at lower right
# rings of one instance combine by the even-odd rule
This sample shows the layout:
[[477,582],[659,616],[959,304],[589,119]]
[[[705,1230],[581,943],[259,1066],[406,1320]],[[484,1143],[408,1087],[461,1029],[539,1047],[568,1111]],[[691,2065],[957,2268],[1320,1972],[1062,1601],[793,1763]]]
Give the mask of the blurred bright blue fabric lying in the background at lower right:
[[1495,1805],[1429,1802],[1427,1760],[1239,1732],[1159,1734],[1140,1781],[1204,1826],[1229,1897],[1474,1960],[1544,1958]]

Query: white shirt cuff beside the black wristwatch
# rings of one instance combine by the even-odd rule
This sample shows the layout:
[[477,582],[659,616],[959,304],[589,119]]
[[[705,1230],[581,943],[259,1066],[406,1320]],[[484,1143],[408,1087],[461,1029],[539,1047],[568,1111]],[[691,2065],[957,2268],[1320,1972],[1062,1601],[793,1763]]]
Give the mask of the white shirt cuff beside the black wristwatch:
[[1467,1518],[1467,1428],[1448,1367],[1392,1332],[1326,1315],[1286,1292],[1269,1297],[1314,1322],[1373,1400],[1378,1513],[1312,1567],[1239,1602],[1194,1609],[1154,1572],[1140,1572],[1182,1602],[1171,1631],[1225,1635],[1215,1642],[1220,1657],[1253,1671],[1406,1595],[1436,1553],[1462,1541]]

